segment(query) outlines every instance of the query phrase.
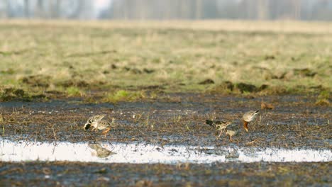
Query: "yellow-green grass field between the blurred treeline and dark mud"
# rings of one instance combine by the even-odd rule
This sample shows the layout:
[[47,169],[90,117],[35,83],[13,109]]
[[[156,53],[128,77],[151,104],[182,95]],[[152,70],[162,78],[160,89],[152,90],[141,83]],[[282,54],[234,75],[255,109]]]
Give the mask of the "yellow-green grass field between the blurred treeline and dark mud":
[[332,23],[1,21],[0,30],[2,98],[331,92]]

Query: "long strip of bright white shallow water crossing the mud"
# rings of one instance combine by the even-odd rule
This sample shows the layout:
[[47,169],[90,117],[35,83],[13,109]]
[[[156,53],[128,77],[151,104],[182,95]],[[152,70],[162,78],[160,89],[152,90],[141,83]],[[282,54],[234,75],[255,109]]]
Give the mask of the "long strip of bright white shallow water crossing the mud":
[[331,162],[329,149],[258,149],[251,147],[192,147],[144,143],[42,143],[0,140],[0,161],[70,161],[105,163],[178,162]]

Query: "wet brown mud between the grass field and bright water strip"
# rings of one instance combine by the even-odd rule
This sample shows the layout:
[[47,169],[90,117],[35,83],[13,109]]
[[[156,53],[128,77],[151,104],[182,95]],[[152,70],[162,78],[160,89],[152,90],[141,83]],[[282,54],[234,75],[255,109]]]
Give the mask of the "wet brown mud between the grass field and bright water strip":
[[[273,110],[261,110],[249,132],[242,128],[245,111],[257,110],[261,102]],[[157,145],[239,147],[329,148],[332,143],[329,106],[316,106],[316,97],[266,96],[234,97],[206,94],[170,94],[153,101],[84,103],[77,100],[50,102],[2,102],[0,134],[10,140],[40,142],[149,142]],[[116,119],[104,137],[101,132],[84,131],[87,118],[106,114]],[[226,135],[216,139],[218,130],[206,119],[231,120],[238,135],[229,142]]]

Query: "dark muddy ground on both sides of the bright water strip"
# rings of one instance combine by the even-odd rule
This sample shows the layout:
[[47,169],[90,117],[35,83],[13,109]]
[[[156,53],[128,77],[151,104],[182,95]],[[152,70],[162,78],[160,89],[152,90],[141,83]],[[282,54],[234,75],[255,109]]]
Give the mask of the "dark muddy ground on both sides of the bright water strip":
[[[249,132],[242,128],[245,111],[263,109]],[[331,149],[332,113],[317,106],[315,96],[235,97],[213,94],[168,94],[160,99],[123,103],[84,103],[79,98],[49,102],[3,102],[0,135],[9,140],[40,142],[149,142],[155,145],[198,145],[239,147],[283,147]],[[84,131],[90,115],[106,114],[116,119],[104,137]],[[233,120],[239,130],[233,142],[204,124],[206,119]],[[223,164],[94,164],[65,162],[0,162],[1,181],[6,186],[38,185],[123,186],[329,186],[331,162]],[[47,179],[48,178],[48,179]]]

